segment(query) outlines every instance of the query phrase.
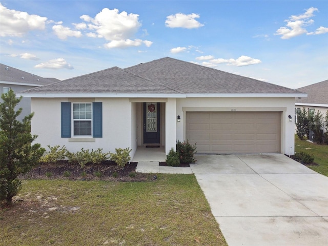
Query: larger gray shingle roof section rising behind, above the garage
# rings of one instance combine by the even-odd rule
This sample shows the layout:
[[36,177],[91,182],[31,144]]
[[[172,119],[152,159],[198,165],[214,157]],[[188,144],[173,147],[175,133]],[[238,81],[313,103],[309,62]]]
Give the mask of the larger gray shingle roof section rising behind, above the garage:
[[272,94],[297,91],[170,57],[124,69],[187,94]]

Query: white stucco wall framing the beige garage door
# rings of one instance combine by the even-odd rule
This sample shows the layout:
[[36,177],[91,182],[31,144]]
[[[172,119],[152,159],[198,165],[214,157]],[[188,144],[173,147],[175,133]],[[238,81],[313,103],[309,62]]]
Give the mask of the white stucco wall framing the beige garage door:
[[[279,111],[281,112],[281,153],[294,153],[294,122],[288,115],[294,115],[294,97],[221,97],[221,98],[178,98],[176,115],[177,140],[186,140],[186,112],[192,111]],[[188,109],[189,108],[189,109]],[[199,109],[199,110],[197,110]],[[294,120],[293,120],[294,121]]]

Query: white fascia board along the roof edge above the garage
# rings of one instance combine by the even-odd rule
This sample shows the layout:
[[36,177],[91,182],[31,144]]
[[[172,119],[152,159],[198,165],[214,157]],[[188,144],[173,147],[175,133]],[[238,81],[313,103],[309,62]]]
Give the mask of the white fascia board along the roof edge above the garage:
[[187,94],[187,97],[307,97],[308,94],[296,93],[222,93],[222,94]]

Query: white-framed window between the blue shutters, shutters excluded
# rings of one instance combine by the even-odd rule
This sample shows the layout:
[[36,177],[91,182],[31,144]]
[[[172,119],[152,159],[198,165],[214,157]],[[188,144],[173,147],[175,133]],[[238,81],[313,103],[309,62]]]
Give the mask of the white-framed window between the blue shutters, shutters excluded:
[[73,104],[74,136],[91,136],[92,104]]

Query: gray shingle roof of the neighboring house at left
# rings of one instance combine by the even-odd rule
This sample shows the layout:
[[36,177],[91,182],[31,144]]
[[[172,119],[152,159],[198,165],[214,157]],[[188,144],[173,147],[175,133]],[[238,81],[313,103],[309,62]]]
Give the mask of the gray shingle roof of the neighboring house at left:
[[[8,68],[8,69],[7,69]],[[24,78],[24,79],[23,79]],[[0,64],[0,80],[5,82],[14,82],[22,84],[33,84],[33,85],[48,85],[53,83],[52,80],[43,78],[5,64]]]

